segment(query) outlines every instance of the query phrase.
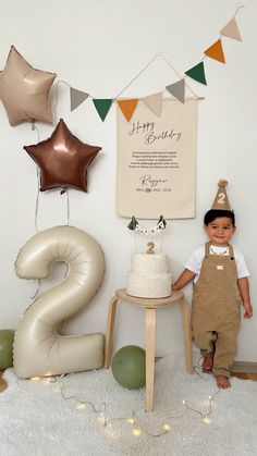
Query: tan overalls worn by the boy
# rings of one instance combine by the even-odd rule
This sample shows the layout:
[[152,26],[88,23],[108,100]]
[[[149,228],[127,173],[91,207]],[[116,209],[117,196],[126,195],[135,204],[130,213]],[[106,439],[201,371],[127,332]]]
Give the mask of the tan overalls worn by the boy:
[[206,243],[200,275],[193,287],[192,329],[203,356],[213,354],[215,375],[230,377],[237,352],[242,298],[233,247],[229,255],[210,255]]

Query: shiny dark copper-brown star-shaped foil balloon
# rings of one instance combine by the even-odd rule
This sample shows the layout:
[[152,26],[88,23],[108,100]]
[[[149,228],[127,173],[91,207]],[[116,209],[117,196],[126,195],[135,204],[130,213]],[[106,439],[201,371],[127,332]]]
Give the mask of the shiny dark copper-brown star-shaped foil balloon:
[[61,119],[50,138],[24,149],[40,168],[40,190],[73,187],[87,192],[87,168],[101,147],[74,136]]

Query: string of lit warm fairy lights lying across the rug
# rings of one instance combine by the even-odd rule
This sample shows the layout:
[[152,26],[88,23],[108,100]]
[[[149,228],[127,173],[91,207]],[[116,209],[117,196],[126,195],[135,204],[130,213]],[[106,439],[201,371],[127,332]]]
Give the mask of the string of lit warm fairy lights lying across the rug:
[[[198,370],[201,369],[199,361],[197,363],[197,366],[194,367],[194,371],[195,373],[197,373],[200,378],[203,378],[204,380],[207,380],[204,375],[201,375]],[[139,417],[137,416],[138,414],[133,410],[131,415],[125,416],[125,417],[110,417],[108,416],[108,407],[106,402],[102,402],[99,406],[97,406],[96,404],[94,404],[91,400],[87,400],[84,399],[82,396],[78,395],[69,395],[68,392],[65,391],[65,384],[64,384],[64,380],[68,375],[63,374],[60,377],[57,375],[52,375],[49,378],[40,378],[40,377],[34,377],[30,380],[32,381],[44,381],[45,383],[54,383],[57,384],[58,387],[58,392],[61,394],[61,397],[64,400],[72,400],[75,403],[75,408],[77,409],[77,411],[89,411],[91,410],[93,414],[95,414],[96,416],[96,420],[97,423],[99,426],[102,427],[102,429],[107,429],[108,430],[108,435],[110,436],[114,436],[117,429],[115,429],[115,423],[117,422],[125,422],[127,423],[127,426],[130,426],[131,430],[130,432],[135,435],[135,436],[140,436],[140,435],[148,435],[151,437],[160,437],[161,435],[164,435],[169,432],[172,432],[172,421],[174,421],[175,419],[179,418],[183,418],[185,416],[185,410],[196,414],[204,423],[209,424],[211,422],[211,414],[212,414],[212,407],[213,407],[213,402],[215,398],[217,397],[217,395],[220,393],[220,389],[218,389],[212,395],[208,396],[208,399],[205,400],[206,404],[206,410],[199,410],[196,407],[193,407],[189,405],[189,403],[187,400],[185,400],[185,398],[180,398],[180,402],[182,404],[182,406],[184,407],[184,412],[182,412],[181,415],[169,415],[166,416],[163,418],[160,418],[160,422],[157,424],[158,429],[155,432],[150,432],[147,429],[146,424],[142,424]]]

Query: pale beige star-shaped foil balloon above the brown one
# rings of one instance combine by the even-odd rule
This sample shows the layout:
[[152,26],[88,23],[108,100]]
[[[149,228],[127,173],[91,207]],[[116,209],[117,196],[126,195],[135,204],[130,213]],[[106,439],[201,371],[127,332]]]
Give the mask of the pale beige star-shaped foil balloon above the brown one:
[[48,94],[56,77],[54,73],[33,69],[11,47],[5,67],[0,72],[0,98],[10,125],[23,121],[52,122]]

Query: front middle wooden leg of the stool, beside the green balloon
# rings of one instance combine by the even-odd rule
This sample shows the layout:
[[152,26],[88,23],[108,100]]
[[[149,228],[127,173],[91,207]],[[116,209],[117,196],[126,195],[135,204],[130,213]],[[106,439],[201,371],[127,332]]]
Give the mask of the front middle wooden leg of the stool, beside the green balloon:
[[146,409],[154,410],[156,309],[146,309]]

